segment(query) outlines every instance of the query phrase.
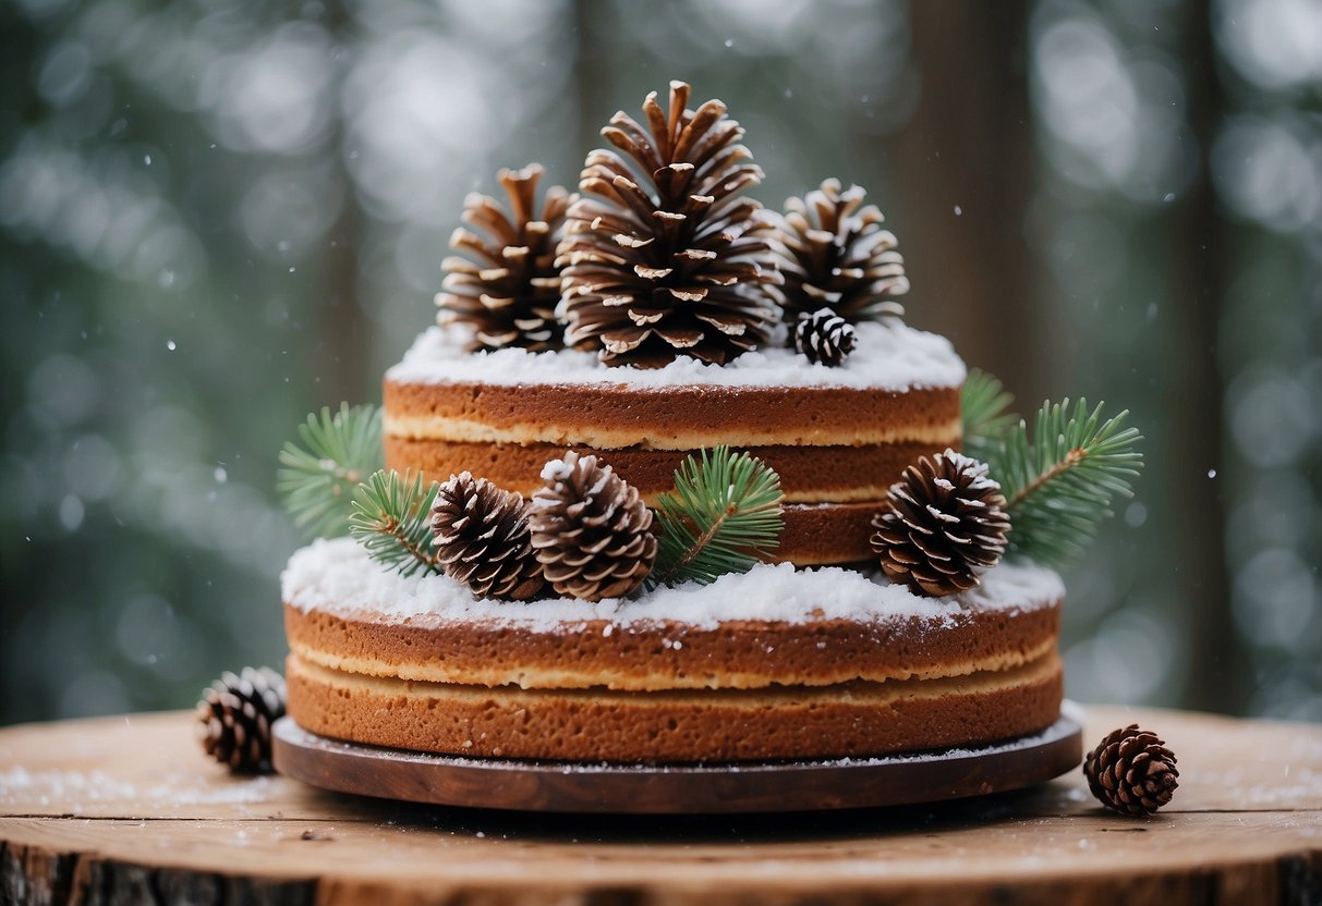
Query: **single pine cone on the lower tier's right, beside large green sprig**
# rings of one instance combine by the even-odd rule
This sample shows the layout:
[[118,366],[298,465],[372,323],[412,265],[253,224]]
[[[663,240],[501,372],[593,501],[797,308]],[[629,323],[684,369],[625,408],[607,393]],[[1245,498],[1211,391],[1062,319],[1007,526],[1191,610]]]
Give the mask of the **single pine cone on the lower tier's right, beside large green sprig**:
[[892,582],[941,597],[978,584],[1005,552],[1010,516],[988,468],[954,450],[923,457],[891,485],[871,543]]

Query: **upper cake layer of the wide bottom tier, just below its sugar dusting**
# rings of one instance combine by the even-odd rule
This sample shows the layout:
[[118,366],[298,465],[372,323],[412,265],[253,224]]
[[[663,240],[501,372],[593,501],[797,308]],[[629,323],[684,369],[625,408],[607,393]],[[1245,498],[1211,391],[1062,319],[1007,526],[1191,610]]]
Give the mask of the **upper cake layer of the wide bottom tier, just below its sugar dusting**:
[[970,608],[947,619],[726,621],[713,629],[595,619],[567,631],[286,605],[284,627],[303,660],[374,676],[526,688],[761,688],[1015,668],[1054,650],[1060,602]]

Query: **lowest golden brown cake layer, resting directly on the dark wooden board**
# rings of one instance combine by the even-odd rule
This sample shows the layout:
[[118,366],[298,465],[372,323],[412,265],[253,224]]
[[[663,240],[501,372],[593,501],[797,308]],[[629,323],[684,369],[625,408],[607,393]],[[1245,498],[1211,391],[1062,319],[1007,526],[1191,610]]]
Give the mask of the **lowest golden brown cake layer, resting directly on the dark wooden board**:
[[568,761],[867,757],[1006,740],[1050,726],[1052,652],[945,680],[746,692],[524,691],[414,683],[287,663],[290,714],[313,733],[423,751]]

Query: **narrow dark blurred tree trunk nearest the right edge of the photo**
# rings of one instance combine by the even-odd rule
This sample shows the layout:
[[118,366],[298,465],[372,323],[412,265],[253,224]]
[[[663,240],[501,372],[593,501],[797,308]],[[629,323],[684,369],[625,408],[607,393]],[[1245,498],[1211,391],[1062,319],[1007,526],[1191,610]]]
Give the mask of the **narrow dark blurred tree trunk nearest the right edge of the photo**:
[[1182,704],[1206,711],[1243,713],[1252,681],[1244,651],[1235,633],[1229,604],[1229,569],[1225,564],[1225,511],[1222,499],[1224,477],[1222,401],[1224,382],[1218,368],[1218,329],[1225,308],[1228,285],[1223,227],[1208,172],[1207,153],[1225,98],[1216,73],[1207,0],[1186,7],[1185,41],[1188,71],[1187,136],[1200,152],[1198,176],[1171,215],[1170,302],[1175,330],[1171,342],[1183,367],[1178,383],[1166,388],[1165,411],[1170,415],[1171,446],[1166,456],[1179,468],[1169,489],[1171,508],[1181,514],[1187,531],[1174,532],[1173,563],[1178,564],[1177,588],[1188,611],[1188,688]]

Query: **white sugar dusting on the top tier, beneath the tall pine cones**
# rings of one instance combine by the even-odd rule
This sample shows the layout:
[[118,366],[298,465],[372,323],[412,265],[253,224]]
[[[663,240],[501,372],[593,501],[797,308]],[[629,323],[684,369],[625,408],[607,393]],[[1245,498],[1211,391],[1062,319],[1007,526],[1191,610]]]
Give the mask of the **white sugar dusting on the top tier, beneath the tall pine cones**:
[[839,367],[814,365],[792,349],[769,346],[726,366],[678,358],[664,368],[605,367],[594,353],[468,353],[457,328],[430,328],[386,372],[399,383],[604,384],[611,387],[855,387],[910,390],[958,387],[966,368],[945,337],[899,321],[855,326],[855,351]]

